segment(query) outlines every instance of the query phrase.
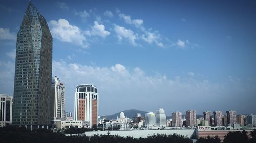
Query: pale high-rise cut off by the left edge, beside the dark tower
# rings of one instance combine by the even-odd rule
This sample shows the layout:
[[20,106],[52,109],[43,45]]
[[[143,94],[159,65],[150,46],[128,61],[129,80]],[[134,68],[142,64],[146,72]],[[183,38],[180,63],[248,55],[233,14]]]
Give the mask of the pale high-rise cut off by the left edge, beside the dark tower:
[[0,127],[12,124],[13,97],[0,94]]

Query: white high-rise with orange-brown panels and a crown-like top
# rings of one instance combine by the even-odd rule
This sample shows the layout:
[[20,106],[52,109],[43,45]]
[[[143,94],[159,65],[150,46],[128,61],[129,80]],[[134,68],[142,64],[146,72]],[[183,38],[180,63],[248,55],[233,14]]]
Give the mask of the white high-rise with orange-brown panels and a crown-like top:
[[99,94],[97,87],[78,85],[75,92],[74,120],[89,122],[89,127],[98,126]]

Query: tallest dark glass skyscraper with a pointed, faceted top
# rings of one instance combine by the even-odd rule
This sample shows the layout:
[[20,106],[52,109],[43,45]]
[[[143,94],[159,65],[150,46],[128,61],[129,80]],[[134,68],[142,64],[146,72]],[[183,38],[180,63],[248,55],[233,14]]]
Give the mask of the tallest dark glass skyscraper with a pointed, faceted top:
[[29,2],[17,33],[13,125],[50,125],[52,36],[46,19]]

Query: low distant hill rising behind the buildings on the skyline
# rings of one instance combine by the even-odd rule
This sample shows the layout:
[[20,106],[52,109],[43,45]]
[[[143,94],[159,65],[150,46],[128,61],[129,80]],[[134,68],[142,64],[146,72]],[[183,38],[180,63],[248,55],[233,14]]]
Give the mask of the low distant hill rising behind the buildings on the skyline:
[[[140,113],[141,116],[145,116],[145,113],[148,113],[146,111],[140,111],[140,110],[135,110],[135,109],[131,109],[131,110],[125,110],[125,111],[121,111],[124,113],[125,117],[127,116],[128,118],[133,119],[133,117],[136,116],[137,113]],[[120,118],[120,112],[118,113],[114,113],[112,115],[105,115],[105,116],[101,116],[101,118],[105,117],[107,119],[116,119],[118,116],[118,118]]]

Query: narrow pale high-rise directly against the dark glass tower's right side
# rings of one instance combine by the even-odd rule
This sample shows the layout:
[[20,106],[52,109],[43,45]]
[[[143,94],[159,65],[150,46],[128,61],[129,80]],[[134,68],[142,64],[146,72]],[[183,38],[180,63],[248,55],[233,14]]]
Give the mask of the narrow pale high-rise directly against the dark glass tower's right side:
[[65,120],[65,85],[57,76],[52,79],[51,121]]

